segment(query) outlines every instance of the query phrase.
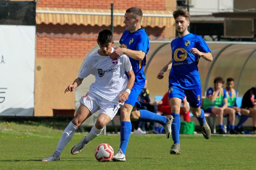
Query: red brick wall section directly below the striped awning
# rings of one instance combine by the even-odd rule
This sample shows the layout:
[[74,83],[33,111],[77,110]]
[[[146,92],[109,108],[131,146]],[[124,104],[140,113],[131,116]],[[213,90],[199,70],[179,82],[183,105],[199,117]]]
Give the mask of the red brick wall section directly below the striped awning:
[[[88,51],[97,45],[96,39],[98,33],[105,28],[109,29],[106,26],[37,25],[37,57],[84,58]],[[118,41],[124,30],[124,27],[115,27],[114,40]],[[161,40],[161,37],[164,36],[164,28],[152,28],[148,26],[145,30],[151,40]]]

